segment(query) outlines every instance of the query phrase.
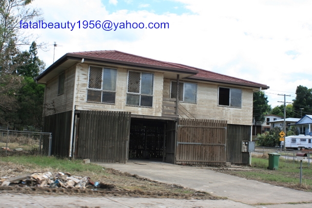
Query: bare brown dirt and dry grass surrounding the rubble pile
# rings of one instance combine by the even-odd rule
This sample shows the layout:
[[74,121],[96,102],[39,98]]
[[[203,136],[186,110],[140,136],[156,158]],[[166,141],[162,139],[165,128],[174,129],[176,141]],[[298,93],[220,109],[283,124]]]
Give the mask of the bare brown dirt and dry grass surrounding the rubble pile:
[[[0,178],[13,178],[24,173],[56,172],[57,170],[29,169],[23,165],[0,161]],[[49,194],[49,195],[80,195],[80,196],[114,196],[114,197],[142,197],[142,198],[174,198],[174,199],[220,199],[207,192],[195,191],[174,184],[160,183],[147,178],[122,173],[114,169],[106,169],[106,174],[98,178],[101,185],[97,188],[90,186],[86,189],[78,188],[50,188],[26,186],[25,184],[10,184],[0,186],[1,193],[20,194]]]

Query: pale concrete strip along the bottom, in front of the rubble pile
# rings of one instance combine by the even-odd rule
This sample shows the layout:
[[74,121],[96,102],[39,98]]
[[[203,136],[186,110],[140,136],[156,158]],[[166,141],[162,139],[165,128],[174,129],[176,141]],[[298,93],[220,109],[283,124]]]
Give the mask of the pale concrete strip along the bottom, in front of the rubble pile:
[[253,208],[231,200],[44,196],[0,193],[0,208]]

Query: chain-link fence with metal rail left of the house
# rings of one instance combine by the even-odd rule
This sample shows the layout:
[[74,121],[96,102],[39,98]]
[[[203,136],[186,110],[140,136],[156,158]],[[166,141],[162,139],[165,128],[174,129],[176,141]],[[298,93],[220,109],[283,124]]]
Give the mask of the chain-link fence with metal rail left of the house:
[[5,155],[23,152],[51,156],[51,142],[52,133],[0,129],[0,147]]

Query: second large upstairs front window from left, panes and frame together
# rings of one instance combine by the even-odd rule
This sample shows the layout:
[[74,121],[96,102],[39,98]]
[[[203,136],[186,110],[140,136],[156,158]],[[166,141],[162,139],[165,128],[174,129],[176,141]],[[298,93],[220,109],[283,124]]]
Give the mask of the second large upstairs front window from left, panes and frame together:
[[129,71],[127,105],[153,106],[154,74]]

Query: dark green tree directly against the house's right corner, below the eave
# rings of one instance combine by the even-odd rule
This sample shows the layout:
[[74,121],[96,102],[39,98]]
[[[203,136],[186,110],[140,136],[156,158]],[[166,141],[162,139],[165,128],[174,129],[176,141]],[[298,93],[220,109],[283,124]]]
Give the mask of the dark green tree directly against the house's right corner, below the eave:
[[254,92],[253,117],[255,121],[264,121],[264,115],[271,110],[268,97],[263,91]]

